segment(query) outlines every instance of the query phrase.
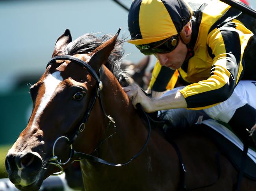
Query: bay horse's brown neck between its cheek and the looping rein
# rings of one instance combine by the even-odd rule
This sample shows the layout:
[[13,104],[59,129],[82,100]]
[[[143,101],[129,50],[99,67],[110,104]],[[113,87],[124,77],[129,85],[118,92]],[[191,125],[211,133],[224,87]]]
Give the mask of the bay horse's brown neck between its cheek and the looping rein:
[[125,155],[119,153],[118,158],[126,158],[125,156],[130,156],[129,152],[134,155],[139,147],[143,146],[148,131],[117,79],[110,71],[105,70],[105,73],[104,87],[101,92],[102,104],[106,114],[115,120],[116,133],[109,138],[108,144],[105,144],[108,148],[101,150],[107,151],[111,148],[113,153],[116,153],[117,150],[119,152],[121,148],[125,148]]

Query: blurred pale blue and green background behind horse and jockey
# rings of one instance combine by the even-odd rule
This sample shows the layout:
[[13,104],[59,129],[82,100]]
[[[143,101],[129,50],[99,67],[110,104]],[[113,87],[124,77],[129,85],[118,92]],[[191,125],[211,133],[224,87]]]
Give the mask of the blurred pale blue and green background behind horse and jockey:
[[[255,1],[248,2],[255,7]],[[57,38],[67,28],[76,39],[84,33],[115,34],[119,27],[129,38],[127,16],[113,0],[0,0],[0,178],[7,176],[6,153],[32,111],[30,84],[43,74]],[[133,45],[125,43],[124,49],[126,60],[143,57]]]

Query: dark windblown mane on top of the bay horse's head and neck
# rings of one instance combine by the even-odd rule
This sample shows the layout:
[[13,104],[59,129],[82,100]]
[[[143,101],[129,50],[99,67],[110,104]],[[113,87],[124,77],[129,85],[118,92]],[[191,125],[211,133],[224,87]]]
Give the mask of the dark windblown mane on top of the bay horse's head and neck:
[[[113,35],[106,34],[100,37],[96,37],[95,34],[86,33],[83,36],[78,37],[76,40],[70,42],[64,49],[66,55],[75,55],[82,53],[91,53],[98,46],[106,42],[106,40],[112,38]],[[105,66],[113,73],[122,87],[130,85],[130,80],[127,73],[121,69],[122,56],[124,55],[124,49],[122,44],[125,39],[117,39],[115,48],[108,57]]]

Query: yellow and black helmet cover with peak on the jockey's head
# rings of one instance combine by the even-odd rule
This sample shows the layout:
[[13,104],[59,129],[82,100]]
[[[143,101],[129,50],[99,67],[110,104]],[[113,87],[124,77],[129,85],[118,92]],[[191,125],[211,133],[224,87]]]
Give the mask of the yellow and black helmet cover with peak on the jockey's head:
[[177,35],[191,16],[184,0],[134,0],[128,15],[128,42],[149,44]]

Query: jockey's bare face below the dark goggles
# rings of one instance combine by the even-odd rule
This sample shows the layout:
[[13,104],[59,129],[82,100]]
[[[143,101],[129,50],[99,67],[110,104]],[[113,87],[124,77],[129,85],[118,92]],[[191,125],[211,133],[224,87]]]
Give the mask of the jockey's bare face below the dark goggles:
[[176,70],[181,67],[187,56],[187,46],[182,40],[179,40],[177,47],[173,51],[156,53],[155,56],[158,58],[160,65]]

